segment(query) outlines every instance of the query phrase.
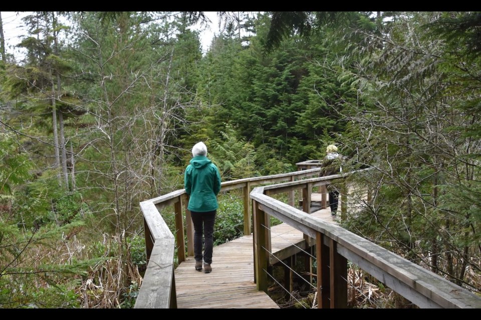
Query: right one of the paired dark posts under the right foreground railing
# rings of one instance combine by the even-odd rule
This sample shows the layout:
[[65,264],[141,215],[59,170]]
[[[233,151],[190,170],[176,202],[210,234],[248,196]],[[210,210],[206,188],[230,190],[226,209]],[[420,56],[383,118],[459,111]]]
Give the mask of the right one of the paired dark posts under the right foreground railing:
[[347,308],[347,259],[337,253],[337,242],[329,239],[331,308]]

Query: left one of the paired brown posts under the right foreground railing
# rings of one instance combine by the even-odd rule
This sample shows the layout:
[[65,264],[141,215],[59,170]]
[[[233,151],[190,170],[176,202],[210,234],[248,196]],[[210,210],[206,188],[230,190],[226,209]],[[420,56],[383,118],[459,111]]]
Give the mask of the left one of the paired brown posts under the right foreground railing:
[[331,282],[329,280],[329,247],[324,245],[323,234],[317,232],[317,307],[329,308],[331,296]]

